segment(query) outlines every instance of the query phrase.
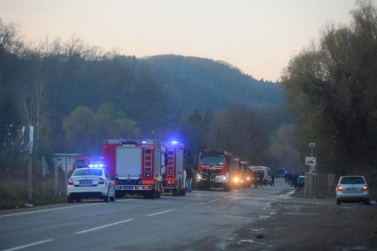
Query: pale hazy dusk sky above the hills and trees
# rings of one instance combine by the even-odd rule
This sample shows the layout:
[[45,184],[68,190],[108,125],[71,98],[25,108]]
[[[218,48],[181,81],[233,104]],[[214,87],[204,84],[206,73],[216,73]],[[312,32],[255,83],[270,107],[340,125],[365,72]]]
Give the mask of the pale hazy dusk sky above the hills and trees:
[[206,57],[275,81],[326,20],[349,22],[353,7],[354,0],[0,0],[0,17],[34,41],[77,33],[105,50]]

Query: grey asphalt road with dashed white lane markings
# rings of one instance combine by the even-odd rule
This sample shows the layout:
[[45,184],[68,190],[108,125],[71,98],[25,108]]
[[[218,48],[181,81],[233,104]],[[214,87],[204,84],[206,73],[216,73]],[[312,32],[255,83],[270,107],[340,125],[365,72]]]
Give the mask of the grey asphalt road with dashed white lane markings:
[[[193,191],[160,199],[83,200],[0,214],[0,250],[213,250],[254,242],[239,231],[271,220],[293,188]],[[228,249],[228,248],[226,248]],[[242,248],[241,248],[242,249]]]

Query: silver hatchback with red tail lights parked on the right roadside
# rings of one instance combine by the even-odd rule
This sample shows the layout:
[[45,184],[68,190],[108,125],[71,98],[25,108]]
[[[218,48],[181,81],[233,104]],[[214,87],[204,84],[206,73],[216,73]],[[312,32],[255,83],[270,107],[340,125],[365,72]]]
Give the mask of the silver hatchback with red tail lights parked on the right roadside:
[[363,176],[342,176],[336,187],[336,204],[364,202],[369,204],[369,187]]

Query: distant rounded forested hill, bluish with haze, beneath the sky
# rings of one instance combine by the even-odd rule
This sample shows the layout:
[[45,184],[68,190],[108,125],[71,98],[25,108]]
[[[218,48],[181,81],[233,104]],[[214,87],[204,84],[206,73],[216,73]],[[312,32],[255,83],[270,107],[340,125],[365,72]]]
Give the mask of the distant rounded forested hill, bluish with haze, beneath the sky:
[[190,110],[229,102],[264,106],[281,101],[282,91],[272,82],[256,80],[240,69],[220,61],[181,55],[156,55],[147,60],[158,79],[167,86],[169,99]]

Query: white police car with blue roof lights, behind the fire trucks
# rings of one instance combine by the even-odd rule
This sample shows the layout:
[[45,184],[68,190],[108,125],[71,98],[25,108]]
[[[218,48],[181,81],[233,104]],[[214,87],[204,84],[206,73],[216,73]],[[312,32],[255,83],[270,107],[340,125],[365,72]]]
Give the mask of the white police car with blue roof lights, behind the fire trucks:
[[67,202],[99,198],[105,202],[115,201],[115,185],[104,168],[87,167],[76,169],[67,184]]

